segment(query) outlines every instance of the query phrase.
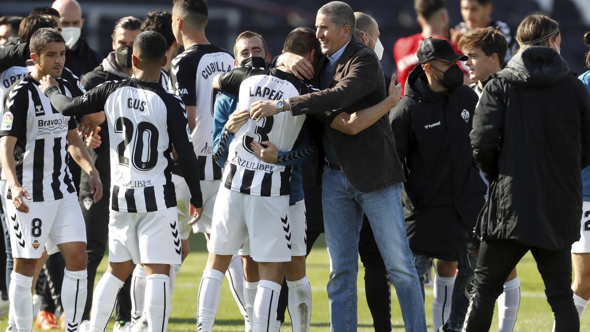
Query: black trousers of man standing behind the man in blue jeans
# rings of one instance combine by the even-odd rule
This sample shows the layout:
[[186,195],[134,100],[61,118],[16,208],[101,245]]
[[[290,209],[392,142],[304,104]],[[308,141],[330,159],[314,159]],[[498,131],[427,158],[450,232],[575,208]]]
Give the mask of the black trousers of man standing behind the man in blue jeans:
[[[313,243],[316,242],[319,232],[307,232],[307,255],[312,251]],[[365,266],[365,295],[369,310],[373,317],[373,328],[375,332],[391,331],[391,288],[389,277],[385,269],[385,263],[377,248],[373,230],[369,220],[363,221],[359,238],[360,261]],[[278,298],[277,320],[285,321],[285,310],[289,298],[287,281],[283,280],[281,295]]]

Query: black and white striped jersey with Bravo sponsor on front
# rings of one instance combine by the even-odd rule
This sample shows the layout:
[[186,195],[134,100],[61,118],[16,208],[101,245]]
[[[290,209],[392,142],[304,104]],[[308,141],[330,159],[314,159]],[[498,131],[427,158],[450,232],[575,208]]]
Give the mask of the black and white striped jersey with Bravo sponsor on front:
[[[71,96],[71,86],[57,79],[59,90]],[[5,96],[0,136],[14,136],[14,158],[18,181],[33,201],[53,201],[74,193],[67,152],[67,134],[76,120],[57,112],[27,74]],[[9,190],[6,198],[11,198]]]

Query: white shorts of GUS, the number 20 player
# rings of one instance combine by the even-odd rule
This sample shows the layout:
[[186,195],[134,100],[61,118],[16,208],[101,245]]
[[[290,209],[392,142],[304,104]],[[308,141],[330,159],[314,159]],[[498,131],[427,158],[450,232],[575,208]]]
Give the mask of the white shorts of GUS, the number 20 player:
[[109,262],[181,264],[175,207],[153,212],[109,214]]

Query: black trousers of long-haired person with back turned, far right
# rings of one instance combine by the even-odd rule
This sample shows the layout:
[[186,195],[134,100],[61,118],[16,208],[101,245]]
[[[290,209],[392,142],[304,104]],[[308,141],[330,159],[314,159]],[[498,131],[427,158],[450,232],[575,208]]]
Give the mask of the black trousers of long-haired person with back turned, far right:
[[555,315],[556,332],[580,330],[573,304],[571,246],[560,250],[531,248],[507,241],[482,242],[477,260],[473,294],[463,331],[489,331],[496,299],[520,259],[530,250],[545,284],[545,295]]

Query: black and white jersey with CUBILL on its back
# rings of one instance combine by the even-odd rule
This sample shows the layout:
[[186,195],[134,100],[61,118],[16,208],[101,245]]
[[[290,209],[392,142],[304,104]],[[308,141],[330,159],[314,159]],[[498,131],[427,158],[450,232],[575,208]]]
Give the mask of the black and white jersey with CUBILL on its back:
[[213,160],[213,107],[221,92],[213,89],[213,77],[234,69],[234,57],[215,45],[194,45],[172,60],[171,80],[186,106],[196,106],[192,144],[201,165],[201,180],[221,179]]

